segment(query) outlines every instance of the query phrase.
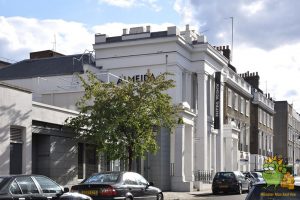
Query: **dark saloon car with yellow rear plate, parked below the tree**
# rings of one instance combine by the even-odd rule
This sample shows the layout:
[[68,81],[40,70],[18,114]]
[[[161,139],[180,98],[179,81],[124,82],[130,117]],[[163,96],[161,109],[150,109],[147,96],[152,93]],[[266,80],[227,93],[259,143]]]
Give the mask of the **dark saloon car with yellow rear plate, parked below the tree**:
[[92,197],[92,199],[153,199],[163,200],[159,188],[153,186],[142,175],[135,172],[103,172],[93,174],[71,191]]

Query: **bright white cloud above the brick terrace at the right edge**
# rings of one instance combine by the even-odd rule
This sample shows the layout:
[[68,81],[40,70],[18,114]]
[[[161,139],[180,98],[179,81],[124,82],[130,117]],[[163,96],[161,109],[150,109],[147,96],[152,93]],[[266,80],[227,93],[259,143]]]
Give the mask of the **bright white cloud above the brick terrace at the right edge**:
[[300,111],[300,43],[263,50],[246,45],[234,49],[233,64],[238,73],[258,72],[260,88],[276,100],[287,100]]

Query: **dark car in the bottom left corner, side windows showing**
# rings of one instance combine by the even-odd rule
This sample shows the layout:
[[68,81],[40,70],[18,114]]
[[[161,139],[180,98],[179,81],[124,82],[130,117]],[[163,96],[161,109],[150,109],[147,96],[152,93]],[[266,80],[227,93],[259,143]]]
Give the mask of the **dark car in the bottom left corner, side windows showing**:
[[0,176],[0,199],[91,200],[42,175]]

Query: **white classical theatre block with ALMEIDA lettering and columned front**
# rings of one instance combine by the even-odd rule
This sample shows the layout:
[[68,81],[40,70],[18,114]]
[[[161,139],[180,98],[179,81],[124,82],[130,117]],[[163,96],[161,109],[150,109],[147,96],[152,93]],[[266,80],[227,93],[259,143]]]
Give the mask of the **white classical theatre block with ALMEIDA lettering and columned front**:
[[159,152],[139,164],[147,179],[164,190],[192,191],[201,187],[198,172],[249,169],[239,162],[250,159],[251,87],[229,66],[228,47],[211,46],[187,25],[183,31],[147,26],[115,37],[96,34],[94,50],[104,72],[134,81],[148,71],[154,77],[170,72],[176,81],[168,94],[183,106],[184,124],[174,134],[159,130]]

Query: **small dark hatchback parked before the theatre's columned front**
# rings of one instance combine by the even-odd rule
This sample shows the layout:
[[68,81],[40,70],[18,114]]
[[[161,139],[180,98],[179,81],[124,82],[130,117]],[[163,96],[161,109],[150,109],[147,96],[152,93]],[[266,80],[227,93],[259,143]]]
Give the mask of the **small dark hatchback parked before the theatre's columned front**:
[[251,181],[247,179],[242,172],[217,172],[212,183],[212,192],[236,192],[242,194],[243,191],[249,191]]

